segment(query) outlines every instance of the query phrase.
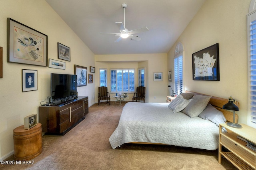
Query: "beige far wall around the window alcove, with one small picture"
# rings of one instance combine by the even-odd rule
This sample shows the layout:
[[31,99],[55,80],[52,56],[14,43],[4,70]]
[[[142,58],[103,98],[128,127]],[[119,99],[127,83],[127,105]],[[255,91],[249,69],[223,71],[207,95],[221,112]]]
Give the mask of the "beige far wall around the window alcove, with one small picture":
[[[108,91],[110,92],[110,68],[135,68],[135,86],[138,85],[138,68],[145,67],[146,99],[145,102],[166,102],[167,94],[167,54],[134,54],[134,55],[95,55],[96,70],[108,68]],[[105,67],[104,67],[105,66]],[[153,72],[163,72],[163,81],[153,81]],[[99,75],[96,74],[96,81]],[[96,88],[99,82],[95,82]],[[98,89],[95,90],[98,95]],[[114,94],[115,95],[115,94]],[[128,94],[132,100],[133,94]],[[113,96],[113,94],[112,94]],[[95,101],[98,98],[95,98]],[[111,99],[113,100],[113,99]],[[96,102],[97,102],[96,101]]]

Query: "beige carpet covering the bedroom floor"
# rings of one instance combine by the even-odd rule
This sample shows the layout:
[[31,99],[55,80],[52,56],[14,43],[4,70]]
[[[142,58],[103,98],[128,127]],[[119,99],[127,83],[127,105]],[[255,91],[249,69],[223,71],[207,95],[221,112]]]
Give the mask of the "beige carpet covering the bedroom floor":
[[[236,170],[218,150],[168,145],[125,144],[112,149],[108,141],[118,125],[119,104],[95,104],[81,123],[64,136],[44,135],[43,151],[34,165],[0,165],[6,170]],[[14,160],[10,156],[7,160]]]

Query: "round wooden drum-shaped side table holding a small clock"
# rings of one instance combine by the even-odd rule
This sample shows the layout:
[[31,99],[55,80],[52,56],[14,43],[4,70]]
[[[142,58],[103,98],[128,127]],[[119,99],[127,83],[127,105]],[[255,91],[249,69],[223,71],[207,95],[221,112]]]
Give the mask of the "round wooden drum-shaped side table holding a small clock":
[[43,149],[42,125],[25,130],[24,125],[13,130],[14,158],[16,160],[31,160],[38,156]]

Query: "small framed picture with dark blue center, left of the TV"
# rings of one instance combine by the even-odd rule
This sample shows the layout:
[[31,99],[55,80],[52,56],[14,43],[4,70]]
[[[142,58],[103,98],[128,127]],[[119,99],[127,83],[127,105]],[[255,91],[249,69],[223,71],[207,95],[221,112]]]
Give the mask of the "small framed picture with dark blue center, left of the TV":
[[37,90],[37,70],[22,69],[22,92]]

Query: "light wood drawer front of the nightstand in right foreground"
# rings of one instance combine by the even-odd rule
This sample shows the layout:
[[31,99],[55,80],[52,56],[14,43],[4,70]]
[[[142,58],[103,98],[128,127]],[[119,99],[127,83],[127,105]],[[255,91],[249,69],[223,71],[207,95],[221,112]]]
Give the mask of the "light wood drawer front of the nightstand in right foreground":
[[[237,140],[239,140],[239,139],[237,139]],[[246,151],[242,147],[242,146],[246,147],[246,142],[244,142],[244,141],[239,141],[239,143],[234,142],[234,141],[230,140],[229,137],[227,137],[225,135],[220,135],[220,143],[224,147],[226,147],[228,150],[230,150],[231,152],[236,154],[237,156],[239,155],[240,158],[242,157],[249,164],[252,164],[255,166],[255,159],[256,159],[255,155],[252,154],[251,152]]]

